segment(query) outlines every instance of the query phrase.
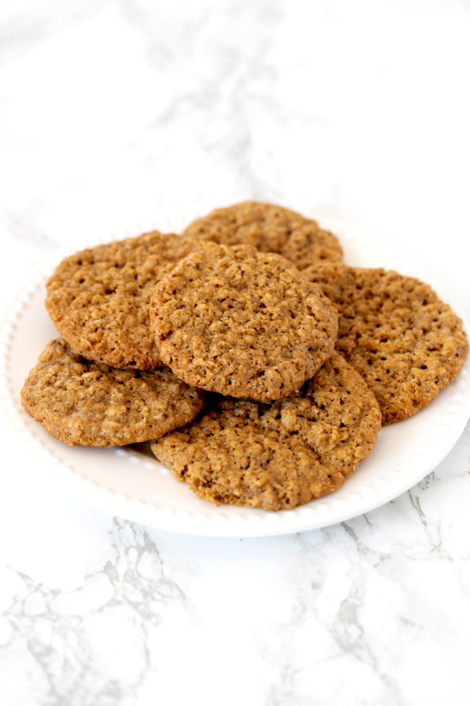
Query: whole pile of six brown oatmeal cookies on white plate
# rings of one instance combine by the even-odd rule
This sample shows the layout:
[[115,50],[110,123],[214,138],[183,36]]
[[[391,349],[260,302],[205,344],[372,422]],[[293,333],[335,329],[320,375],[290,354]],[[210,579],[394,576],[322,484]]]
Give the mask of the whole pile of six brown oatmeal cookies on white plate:
[[46,307],[61,338],[21,401],[49,433],[151,441],[201,498],[265,510],[338,488],[469,350],[428,285],[348,267],[334,234],[254,202],[66,258]]

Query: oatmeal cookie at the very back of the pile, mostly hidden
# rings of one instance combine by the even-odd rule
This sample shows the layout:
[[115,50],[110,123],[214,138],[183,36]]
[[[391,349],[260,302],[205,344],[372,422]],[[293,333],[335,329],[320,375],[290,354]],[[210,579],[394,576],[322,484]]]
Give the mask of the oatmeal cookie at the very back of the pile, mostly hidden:
[[341,261],[343,251],[333,233],[315,220],[271,203],[244,201],[218,208],[187,227],[183,237],[221,245],[246,243],[278,253],[299,270],[317,261]]

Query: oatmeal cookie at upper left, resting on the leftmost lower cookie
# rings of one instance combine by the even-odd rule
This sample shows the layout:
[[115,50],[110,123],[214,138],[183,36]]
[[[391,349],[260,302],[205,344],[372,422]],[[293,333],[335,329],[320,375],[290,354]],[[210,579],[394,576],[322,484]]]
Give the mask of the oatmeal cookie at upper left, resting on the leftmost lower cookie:
[[162,363],[148,328],[151,292],[190,249],[176,235],[153,231],[75,253],[47,282],[49,316],[88,359],[152,370]]

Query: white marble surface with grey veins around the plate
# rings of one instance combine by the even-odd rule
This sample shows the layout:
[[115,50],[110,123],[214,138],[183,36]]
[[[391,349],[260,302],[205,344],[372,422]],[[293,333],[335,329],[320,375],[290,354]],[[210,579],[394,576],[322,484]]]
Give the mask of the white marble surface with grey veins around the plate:
[[[469,35],[460,0],[3,0],[1,310],[78,237],[256,198],[406,247],[469,317]],[[387,505],[243,540],[0,445],[2,705],[468,704],[469,427]]]

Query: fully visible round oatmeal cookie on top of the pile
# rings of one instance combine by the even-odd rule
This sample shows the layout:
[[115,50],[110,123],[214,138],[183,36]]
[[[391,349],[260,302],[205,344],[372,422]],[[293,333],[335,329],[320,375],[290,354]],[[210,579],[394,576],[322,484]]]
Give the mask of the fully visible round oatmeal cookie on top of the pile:
[[334,351],[336,311],[286,258],[205,243],[151,297],[160,357],[189,385],[276,400]]

